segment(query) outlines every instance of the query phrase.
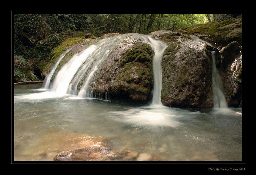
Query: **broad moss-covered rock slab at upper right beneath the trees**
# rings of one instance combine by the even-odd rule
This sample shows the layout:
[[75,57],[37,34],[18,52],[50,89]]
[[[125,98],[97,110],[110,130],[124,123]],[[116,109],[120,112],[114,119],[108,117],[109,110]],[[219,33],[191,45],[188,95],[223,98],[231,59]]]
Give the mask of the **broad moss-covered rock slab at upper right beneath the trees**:
[[187,34],[197,35],[213,45],[219,43],[219,45],[227,46],[233,41],[242,43],[242,18],[200,24],[187,27],[184,30],[187,31]]

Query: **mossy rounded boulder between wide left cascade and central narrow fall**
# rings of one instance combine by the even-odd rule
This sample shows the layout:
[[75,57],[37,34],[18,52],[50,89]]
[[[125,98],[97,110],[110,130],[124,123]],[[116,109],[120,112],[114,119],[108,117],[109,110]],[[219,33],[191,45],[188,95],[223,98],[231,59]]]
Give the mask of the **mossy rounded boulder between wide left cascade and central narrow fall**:
[[132,38],[126,40],[100,65],[91,89],[103,96],[107,92],[146,101],[153,87],[153,54],[149,44],[134,42]]

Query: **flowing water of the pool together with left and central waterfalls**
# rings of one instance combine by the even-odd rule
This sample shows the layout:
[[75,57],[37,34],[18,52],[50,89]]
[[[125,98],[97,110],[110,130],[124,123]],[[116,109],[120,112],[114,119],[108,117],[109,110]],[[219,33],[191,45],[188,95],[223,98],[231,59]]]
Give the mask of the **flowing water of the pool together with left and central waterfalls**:
[[132,34],[150,44],[155,52],[152,103],[91,98],[93,92],[88,91],[88,86],[93,74],[111,50],[130,35],[103,39],[75,54],[50,83],[67,50],[46,77],[44,88],[14,87],[15,160],[53,160],[61,151],[78,149],[72,140],[83,133],[106,137],[110,149],[120,154],[126,149],[167,161],[242,160],[241,109],[224,114],[211,108],[163,106],[161,62],[166,45],[146,35]]

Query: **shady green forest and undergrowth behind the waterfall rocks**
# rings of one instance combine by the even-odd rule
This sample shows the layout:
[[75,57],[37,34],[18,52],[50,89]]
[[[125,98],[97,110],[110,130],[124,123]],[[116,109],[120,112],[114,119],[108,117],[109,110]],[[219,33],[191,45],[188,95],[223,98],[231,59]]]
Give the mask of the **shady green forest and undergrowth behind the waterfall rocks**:
[[[49,53],[69,37],[97,38],[105,33],[148,34],[241,17],[241,14],[13,14],[14,76],[27,66],[40,74]],[[24,79],[25,81],[26,79]]]

